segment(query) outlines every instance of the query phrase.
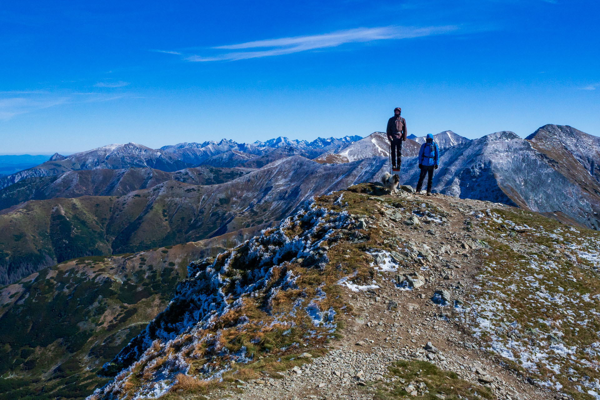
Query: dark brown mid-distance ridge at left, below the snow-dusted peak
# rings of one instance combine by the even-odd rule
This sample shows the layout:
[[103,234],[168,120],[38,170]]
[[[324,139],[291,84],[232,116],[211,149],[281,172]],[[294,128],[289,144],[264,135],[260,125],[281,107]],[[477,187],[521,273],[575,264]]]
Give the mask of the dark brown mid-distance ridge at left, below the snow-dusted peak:
[[247,169],[200,166],[177,172],[164,172],[151,168],[97,169],[26,178],[0,190],[0,212],[28,200],[122,196],[135,190],[152,188],[171,179],[193,185],[222,184],[248,172],[250,170]]

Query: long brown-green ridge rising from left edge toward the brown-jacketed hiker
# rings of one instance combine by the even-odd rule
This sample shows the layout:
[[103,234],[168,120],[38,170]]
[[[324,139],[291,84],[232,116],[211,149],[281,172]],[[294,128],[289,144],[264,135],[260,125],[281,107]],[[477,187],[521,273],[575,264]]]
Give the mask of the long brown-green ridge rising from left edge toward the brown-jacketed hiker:
[[170,180],[125,196],[28,201],[0,215],[0,279],[14,281],[70,258],[140,251],[277,221],[313,196],[376,181],[386,163],[370,158],[322,165],[295,156],[223,184]]

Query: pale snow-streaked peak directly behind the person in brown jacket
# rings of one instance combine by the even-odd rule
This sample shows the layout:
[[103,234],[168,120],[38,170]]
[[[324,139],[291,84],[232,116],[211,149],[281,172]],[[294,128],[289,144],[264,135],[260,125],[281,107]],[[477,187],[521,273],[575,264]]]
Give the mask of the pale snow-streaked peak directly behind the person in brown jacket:
[[[421,145],[407,139],[402,143],[402,155],[410,157],[419,154]],[[369,136],[354,142],[341,151],[328,152],[315,158],[317,163],[340,164],[362,160],[367,157],[389,157],[389,141],[385,133],[373,132]]]

